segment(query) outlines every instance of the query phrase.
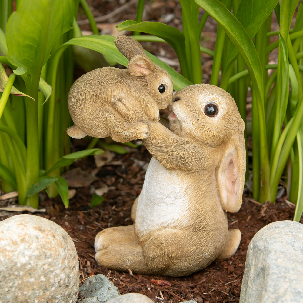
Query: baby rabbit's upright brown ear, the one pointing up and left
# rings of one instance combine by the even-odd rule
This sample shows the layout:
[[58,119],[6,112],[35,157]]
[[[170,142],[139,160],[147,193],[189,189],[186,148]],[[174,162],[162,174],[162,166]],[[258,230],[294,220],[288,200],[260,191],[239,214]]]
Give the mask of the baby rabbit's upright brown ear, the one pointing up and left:
[[115,38],[115,45],[128,60],[136,55],[146,56],[142,45],[132,37],[118,36]]

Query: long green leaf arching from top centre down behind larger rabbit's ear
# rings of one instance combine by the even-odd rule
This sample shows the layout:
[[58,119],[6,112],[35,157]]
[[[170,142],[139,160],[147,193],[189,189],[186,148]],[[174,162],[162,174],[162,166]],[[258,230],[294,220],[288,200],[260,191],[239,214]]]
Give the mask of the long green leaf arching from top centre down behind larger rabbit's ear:
[[[260,202],[265,202],[270,199],[269,192],[269,180],[270,180],[270,168],[268,158],[268,146],[266,138],[266,125],[265,125],[265,109],[264,109],[264,73],[263,66],[256,51],[255,45],[251,40],[251,37],[245,31],[241,23],[235,18],[234,15],[218,0],[195,0],[208,14],[220,25],[231,42],[236,46],[238,52],[245,61],[245,65],[248,69],[249,75],[252,81],[253,88],[253,102],[255,105],[254,112],[257,115],[255,123],[258,125],[258,142],[256,154],[257,161],[254,161],[257,165],[254,165],[254,176],[260,176],[258,182],[258,188],[260,188],[260,195],[257,198]],[[255,101],[254,101],[255,100]],[[259,156],[258,156],[259,153]],[[259,168],[262,169],[259,169]],[[255,177],[256,178],[256,177]],[[256,182],[254,182],[256,184]],[[259,187],[259,184],[261,186]],[[257,194],[258,195],[258,194]]]

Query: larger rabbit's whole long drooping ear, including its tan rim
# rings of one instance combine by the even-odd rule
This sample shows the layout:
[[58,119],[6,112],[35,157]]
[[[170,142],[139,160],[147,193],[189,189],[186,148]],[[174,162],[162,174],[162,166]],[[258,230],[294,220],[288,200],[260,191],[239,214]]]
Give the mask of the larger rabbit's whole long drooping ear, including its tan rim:
[[243,135],[236,134],[224,154],[217,175],[219,198],[225,211],[236,212],[241,207],[245,170],[245,142]]

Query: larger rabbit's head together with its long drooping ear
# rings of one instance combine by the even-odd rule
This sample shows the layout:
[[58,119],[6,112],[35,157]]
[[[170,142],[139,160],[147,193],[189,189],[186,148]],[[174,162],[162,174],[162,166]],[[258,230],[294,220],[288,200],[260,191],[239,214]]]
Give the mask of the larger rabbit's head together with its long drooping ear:
[[235,212],[242,203],[246,151],[244,122],[234,99],[214,85],[196,84],[173,96],[169,115],[171,131],[209,147],[222,208]]

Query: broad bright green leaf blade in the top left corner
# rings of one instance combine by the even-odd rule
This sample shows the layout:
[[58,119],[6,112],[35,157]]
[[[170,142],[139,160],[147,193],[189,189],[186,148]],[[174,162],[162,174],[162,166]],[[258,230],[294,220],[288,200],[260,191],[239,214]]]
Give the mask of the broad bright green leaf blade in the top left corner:
[[7,58],[27,69],[23,77],[27,88],[38,83],[54,42],[71,28],[73,15],[72,0],[23,0],[8,19]]

